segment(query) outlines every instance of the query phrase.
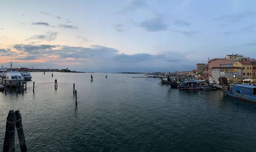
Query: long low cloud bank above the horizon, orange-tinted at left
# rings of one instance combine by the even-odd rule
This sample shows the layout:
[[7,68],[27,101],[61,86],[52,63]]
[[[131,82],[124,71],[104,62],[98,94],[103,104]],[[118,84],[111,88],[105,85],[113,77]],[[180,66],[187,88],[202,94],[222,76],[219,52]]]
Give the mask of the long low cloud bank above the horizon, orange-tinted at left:
[[[27,66],[36,65],[41,68],[62,68],[64,66],[81,71],[145,72],[145,67],[152,71],[163,69],[173,71],[188,70],[193,69],[196,63],[195,61],[187,60],[184,54],[177,52],[169,51],[158,55],[147,53],[128,55],[120,54],[119,50],[115,48],[101,45],[76,47],[15,44],[12,49],[0,49],[0,59],[4,54],[8,54],[8,58],[6,56],[2,57],[5,62],[18,62],[15,65],[27,63]],[[186,59],[186,62],[184,62],[184,59]]]

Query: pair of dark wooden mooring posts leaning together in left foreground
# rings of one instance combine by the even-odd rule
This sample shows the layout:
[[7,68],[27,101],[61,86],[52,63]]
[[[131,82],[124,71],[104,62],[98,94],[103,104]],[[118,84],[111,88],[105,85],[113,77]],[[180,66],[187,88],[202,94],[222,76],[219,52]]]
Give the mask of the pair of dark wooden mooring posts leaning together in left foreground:
[[18,110],[10,110],[6,121],[6,132],[3,151],[15,151],[15,126],[19,139],[19,146],[22,152],[27,151],[26,140],[22,125],[22,115]]

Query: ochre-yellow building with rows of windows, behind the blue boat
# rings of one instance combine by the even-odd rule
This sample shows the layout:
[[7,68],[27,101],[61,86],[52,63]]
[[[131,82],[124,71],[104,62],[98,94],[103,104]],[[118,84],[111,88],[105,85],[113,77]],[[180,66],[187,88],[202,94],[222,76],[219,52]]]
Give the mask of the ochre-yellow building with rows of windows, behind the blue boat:
[[244,79],[252,79],[252,64],[249,61],[237,61],[233,64],[234,67],[242,67],[242,77]]

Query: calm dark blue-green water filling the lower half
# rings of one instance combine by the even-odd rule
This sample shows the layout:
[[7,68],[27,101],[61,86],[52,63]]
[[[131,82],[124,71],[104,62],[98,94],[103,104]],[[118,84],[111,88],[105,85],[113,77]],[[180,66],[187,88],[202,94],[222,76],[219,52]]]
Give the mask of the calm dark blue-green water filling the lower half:
[[[32,73],[27,92],[0,93],[0,145],[20,110],[29,151],[255,151],[256,104],[222,91],[178,90],[143,74]],[[129,76],[129,78],[128,78]],[[54,80],[58,89],[54,90]],[[75,110],[73,83],[78,107]],[[17,134],[15,149],[19,151]]]

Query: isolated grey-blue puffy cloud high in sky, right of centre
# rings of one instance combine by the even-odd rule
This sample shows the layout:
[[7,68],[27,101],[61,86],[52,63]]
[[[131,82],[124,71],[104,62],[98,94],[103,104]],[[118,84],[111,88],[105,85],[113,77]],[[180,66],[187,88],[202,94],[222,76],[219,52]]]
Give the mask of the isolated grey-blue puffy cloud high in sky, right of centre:
[[164,23],[160,17],[145,20],[140,23],[140,26],[148,32],[168,30],[168,24]]

